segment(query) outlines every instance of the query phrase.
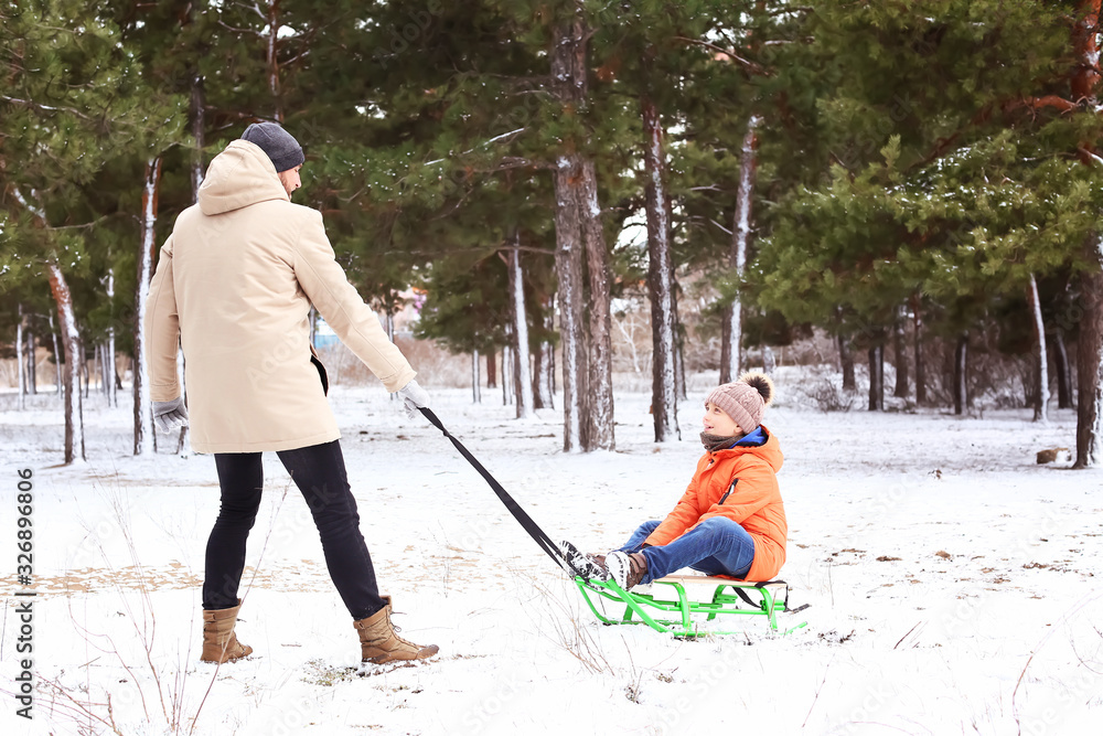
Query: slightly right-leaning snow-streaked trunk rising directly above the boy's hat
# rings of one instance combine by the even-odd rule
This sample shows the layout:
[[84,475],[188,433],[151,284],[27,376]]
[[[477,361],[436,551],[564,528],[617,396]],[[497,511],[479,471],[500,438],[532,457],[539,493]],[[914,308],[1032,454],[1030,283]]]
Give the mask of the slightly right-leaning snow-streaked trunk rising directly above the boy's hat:
[[747,267],[747,246],[751,234],[751,204],[754,196],[756,149],[758,137],[756,129],[762,121],[752,115],[747,121],[747,132],[743,135],[743,146],[739,162],[739,190],[736,194],[736,214],[731,226],[731,267],[736,278],[736,294],[731,307],[726,312],[725,340],[720,349],[720,383],[728,383],[739,377],[742,363],[743,340],[743,271]]

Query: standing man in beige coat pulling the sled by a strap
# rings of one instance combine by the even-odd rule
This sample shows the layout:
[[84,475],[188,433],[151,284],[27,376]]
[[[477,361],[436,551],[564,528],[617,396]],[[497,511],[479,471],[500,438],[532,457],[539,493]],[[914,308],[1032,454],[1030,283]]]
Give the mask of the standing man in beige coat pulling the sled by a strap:
[[326,323],[406,412],[429,396],[375,313],[333,257],[321,213],[291,204],[302,148],[275,122],[250,125],[216,156],[199,202],[180,213],[161,248],[146,313],[158,428],[189,423],[176,376],[183,348],[191,442],[215,457],[222,506],[207,541],[203,652],[208,662],[247,657],[234,623],[245,543],[260,506],[261,452],[275,451],[302,492],[330,577],[360,633],[363,661],[425,659],[436,646],[398,637],[360,532],[325,371],[308,314]]

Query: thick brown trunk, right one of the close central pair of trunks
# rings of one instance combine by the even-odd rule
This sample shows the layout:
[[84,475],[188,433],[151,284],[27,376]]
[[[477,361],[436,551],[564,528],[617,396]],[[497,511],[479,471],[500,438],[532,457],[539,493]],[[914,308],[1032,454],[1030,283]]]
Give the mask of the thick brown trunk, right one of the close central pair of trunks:
[[587,273],[590,286],[589,352],[587,354],[586,407],[587,430],[582,433],[582,450],[617,448],[613,423],[613,344],[610,309],[609,249],[601,225],[598,204],[598,173],[593,161],[582,159],[579,190],[579,214],[586,244]]

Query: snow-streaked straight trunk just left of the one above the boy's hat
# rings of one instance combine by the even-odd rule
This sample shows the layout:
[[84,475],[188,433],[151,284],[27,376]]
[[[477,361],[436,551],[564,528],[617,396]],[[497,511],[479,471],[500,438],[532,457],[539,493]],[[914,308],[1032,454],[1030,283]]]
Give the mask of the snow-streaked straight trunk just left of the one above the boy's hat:
[[655,441],[682,439],[678,428],[676,350],[674,345],[674,296],[671,274],[670,199],[666,194],[666,158],[658,110],[650,97],[642,98],[646,172],[647,296],[651,300],[651,412]]

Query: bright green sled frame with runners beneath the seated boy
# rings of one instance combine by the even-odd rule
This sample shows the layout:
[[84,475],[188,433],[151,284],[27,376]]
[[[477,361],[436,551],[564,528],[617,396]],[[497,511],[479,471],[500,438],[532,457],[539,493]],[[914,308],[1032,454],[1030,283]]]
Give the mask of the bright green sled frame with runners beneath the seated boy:
[[[796,612],[807,607],[805,605],[790,611],[789,585],[784,580],[743,583],[726,577],[667,575],[652,583],[653,586],[663,587],[654,588],[651,593],[624,590],[612,580],[587,579],[581,576],[575,577],[575,584],[602,623],[646,623],[656,631],[676,637],[742,633],[698,629],[697,622],[692,618],[694,615],[705,615],[706,621],[711,621],[717,616],[764,616],[770,621],[770,628],[779,631],[779,612]],[[709,600],[696,600],[686,593],[686,586],[709,585],[714,586]],[[604,600],[624,604],[624,614],[620,618],[607,616],[603,612]],[[805,626],[807,621],[785,629],[782,633],[792,633]]]

